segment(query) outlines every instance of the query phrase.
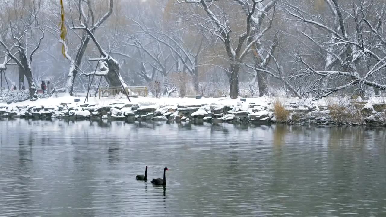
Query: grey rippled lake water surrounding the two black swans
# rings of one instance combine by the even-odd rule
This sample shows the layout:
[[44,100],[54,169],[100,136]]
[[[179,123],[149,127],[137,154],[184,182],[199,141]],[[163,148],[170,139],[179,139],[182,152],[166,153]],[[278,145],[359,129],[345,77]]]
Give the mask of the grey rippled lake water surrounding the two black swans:
[[21,119],[0,137],[0,216],[386,215],[383,128]]

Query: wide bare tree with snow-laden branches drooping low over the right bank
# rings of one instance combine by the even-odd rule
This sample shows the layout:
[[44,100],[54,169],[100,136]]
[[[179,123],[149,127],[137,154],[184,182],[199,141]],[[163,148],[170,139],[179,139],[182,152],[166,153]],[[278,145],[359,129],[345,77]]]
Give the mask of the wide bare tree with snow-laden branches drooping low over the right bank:
[[301,40],[312,42],[318,52],[314,55],[324,59],[324,65],[315,64],[312,58],[298,53],[297,61],[303,67],[295,76],[314,77],[306,88],[316,100],[344,89],[355,90],[351,92],[354,96],[363,96],[365,86],[374,88],[376,94],[385,90],[386,38],[380,33],[385,4],[349,0],[342,7],[338,0],[323,3],[326,10],[320,14],[315,8],[303,7],[301,2],[284,3],[289,20],[301,24],[297,29]]

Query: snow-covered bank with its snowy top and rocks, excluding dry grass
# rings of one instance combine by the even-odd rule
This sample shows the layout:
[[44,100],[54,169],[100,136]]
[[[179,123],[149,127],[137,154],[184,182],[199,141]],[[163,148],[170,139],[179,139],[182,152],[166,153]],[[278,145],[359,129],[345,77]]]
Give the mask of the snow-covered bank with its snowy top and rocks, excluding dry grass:
[[[363,123],[333,120],[326,100],[311,102],[298,98],[246,98],[245,102],[231,98],[90,98],[84,102],[74,102],[79,97],[42,98],[7,105],[0,103],[2,118],[26,119],[71,119],[71,120],[125,120],[125,121],[169,121],[169,122],[229,122],[259,123],[277,122],[273,103],[281,100],[289,111],[288,123],[308,124],[377,124],[382,125],[382,104],[379,98],[368,100],[359,112]],[[329,99],[331,100],[331,98]],[[337,100],[337,99],[335,99]],[[372,103],[370,103],[372,102]],[[381,106],[381,110],[373,105]],[[386,114],[386,113],[385,113]],[[386,117],[386,116],[385,116]]]

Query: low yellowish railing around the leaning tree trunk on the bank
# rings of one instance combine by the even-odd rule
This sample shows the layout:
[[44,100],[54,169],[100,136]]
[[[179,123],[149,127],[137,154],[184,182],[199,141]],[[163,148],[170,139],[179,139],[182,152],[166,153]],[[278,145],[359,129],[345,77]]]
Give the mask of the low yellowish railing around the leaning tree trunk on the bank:
[[[147,86],[128,86],[125,88],[126,92],[130,96],[147,97]],[[120,97],[125,96],[125,92],[122,87],[100,87],[99,98],[101,97]]]

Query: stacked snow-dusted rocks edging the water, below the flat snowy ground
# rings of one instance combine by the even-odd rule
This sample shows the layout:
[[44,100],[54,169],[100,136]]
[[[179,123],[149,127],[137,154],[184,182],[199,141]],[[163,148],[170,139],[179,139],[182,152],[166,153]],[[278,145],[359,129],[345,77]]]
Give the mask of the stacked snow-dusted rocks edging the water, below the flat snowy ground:
[[[60,103],[57,106],[41,105],[9,105],[0,106],[2,118],[24,118],[37,120],[70,119],[70,120],[124,120],[167,121],[167,122],[213,122],[213,123],[288,123],[288,124],[319,124],[319,125],[385,125],[386,105],[364,104],[358,108],[362,121],[334,120],[331,108],[327,106],[296,105],[290,103],[288,119],[277,120],[273,105],[251,102],[237,102],[236,105],[221,103],[181,104],[157,107],[156,105],[139,105],[136,103],[115,102],[106,106],[93,103]],[[335,114],[336,115],[336,114]],[[342,115],[341,115],[342,116]],[[343,115],[344,116],[344,115]],[[344,118],[344,117],[343,117]]]

